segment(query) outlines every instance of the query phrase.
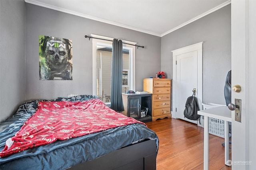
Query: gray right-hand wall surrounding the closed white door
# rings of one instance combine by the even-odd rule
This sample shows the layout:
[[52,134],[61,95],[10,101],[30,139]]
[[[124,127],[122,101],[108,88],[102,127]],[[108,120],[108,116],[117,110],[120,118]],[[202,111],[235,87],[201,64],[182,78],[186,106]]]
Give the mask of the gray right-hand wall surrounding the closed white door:
[[203,43],[203,102],[226,104],[224,83],[231,70],[231,5],[161,39],[161,70],[172,78],[172,50]]

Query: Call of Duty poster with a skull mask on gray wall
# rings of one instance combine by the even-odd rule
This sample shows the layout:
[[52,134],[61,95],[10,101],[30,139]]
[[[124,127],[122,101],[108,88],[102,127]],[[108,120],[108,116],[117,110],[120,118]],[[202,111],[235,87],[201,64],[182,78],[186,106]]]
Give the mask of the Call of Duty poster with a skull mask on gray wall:
[[72,40],[39,35],[40,80],[72,80]]

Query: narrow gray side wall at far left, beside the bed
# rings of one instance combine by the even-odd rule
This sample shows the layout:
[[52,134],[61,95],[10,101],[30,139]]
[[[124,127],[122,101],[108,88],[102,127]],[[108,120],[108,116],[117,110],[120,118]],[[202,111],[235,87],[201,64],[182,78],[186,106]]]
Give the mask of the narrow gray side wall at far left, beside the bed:
[[25,2],[0,0],[0,121],[25,100]]

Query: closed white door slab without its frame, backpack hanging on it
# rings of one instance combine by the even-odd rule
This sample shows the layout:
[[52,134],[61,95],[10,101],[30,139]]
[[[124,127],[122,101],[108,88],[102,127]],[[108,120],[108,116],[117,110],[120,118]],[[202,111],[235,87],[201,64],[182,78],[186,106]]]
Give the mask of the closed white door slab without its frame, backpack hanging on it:
[[197,51],[178,55],[176,61],[176,117],[197,124],[196,120],[184,117],[186,100],[189,96],[192,96],[194,88],[198,89]]

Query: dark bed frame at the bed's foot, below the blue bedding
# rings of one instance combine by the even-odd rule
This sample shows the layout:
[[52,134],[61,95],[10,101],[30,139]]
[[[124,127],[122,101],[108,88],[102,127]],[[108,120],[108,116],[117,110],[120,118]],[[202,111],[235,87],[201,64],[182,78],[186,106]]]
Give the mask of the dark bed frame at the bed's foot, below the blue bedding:
[[148,140],[72,166],[68,170],[156,170],[156,155],[156,141]]

